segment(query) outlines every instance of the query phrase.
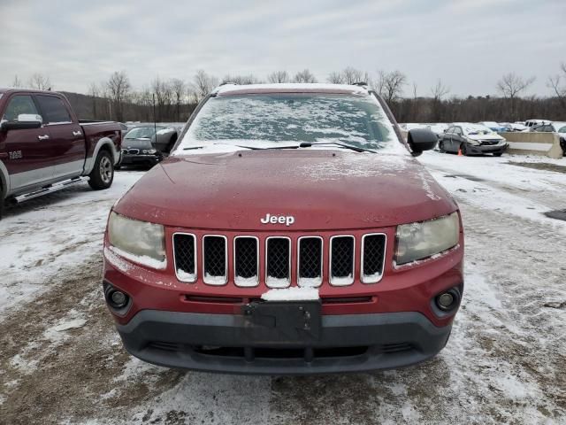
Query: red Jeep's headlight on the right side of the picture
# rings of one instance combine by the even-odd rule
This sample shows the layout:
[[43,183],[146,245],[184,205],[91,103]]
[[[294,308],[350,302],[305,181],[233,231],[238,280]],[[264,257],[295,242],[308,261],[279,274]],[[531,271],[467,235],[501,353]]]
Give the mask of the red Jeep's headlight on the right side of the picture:
[[426,259],[454,247],[460,238],[458,213],[397,226],[395,264]]

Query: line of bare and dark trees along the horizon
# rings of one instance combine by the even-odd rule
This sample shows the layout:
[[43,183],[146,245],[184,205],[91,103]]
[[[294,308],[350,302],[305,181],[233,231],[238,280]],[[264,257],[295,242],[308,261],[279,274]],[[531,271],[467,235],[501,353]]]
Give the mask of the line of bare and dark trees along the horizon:
[[[377,91],[391,107],[399,122],[453,122],[496,120],[516,121],[530,118],[566,120],[566,63],[555,75],[547,77],[551,97],[523,96],[535,81],[517,73],[507,73],[497,81],[497,96],[450,96],[451,89],[441,80],[428,89],[410,82],[401,71],[368,73],[348,66],[329,73],[318,81],[309,69],[291,74],[275,71],[265,78],[256,75],[227,74],[223,78],[199,70],[190,80],[156,77],[149,84],[134,89],[126,72],[116,71],[107,81],[93,82],[86,95],[66,93],[84,120],[183,122],[196,105],[218,84],[261,84],[264,82],[331,82],[353,84],[365,82]],[[34,73],[24,83],[15,76],[12,87],[52,89],[50,77]],[[406,93],[410,95],[407,96]]]

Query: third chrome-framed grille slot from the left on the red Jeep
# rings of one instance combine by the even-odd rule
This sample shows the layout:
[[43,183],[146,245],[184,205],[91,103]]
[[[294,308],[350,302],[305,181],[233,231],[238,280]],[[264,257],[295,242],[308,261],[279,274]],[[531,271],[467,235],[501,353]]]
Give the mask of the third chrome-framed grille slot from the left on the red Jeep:
[[236,236],[233,240],[233,274],[236,286],[259,284],[259,241],[254,236]]

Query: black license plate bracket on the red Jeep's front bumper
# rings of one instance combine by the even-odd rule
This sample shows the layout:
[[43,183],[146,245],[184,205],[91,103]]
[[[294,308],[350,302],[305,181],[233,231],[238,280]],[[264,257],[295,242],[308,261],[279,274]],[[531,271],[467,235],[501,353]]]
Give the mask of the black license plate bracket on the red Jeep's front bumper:
[[320,339],[321,310],[319,301],[252,302],[242,306],[247,321],[254,325],[255,339],[280,339],[288,344],[308,344]]

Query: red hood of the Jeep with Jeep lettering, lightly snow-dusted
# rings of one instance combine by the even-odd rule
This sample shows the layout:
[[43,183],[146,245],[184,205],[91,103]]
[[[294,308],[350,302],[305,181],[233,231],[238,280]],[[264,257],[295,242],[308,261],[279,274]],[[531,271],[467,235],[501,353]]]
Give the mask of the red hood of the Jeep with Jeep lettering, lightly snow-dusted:
[[[409,155],[305,150],[171,157],[114,209],[183,228],[293,231],[394,226],[457,206]],[[267,213],[294,224],[261,224]]]

